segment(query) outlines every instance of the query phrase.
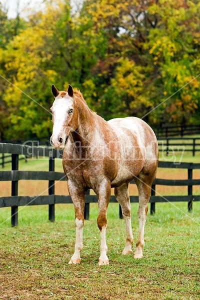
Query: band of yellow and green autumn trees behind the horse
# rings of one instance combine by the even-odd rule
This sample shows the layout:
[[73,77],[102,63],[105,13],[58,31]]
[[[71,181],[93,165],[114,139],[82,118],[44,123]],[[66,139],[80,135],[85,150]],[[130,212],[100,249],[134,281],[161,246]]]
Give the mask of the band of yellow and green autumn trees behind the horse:
[[[200,73],[199,0],[68,0],[8,19],[0,6],[0,75],[50,108],[68,83],[105,119],[142,117]],[[200,77],[144,120],[200,123]],[[50,114],[0,77],[0,139],[46,137]]]

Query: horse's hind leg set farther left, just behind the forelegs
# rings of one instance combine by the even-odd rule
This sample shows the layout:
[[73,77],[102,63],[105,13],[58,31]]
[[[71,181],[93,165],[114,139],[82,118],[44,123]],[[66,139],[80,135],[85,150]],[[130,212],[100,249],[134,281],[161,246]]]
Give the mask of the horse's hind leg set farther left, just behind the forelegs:
[[114,195],[117,201],[119,202],[119,204],[121,205],[123,218],[125,220],[126,244],[125,244],[125,248],[122,251],[122,253],[125,255],[132,252],[132,242],[133,242],[128,184],[123,184],[119,187],[115,187]]

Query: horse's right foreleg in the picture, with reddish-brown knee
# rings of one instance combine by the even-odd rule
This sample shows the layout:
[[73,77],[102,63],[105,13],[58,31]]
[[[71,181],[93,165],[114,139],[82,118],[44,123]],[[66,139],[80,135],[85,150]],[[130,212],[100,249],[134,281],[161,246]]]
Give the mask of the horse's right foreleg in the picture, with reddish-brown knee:
[[98,265],[109,264],[109,259],[107,257],[107,245],[105,232],[107,227],[107,206],[109,203],[111,193],[110,182],[106,182],[100,186],[100,188],[96,191],[98,197],[98,208],[99,214],[97,217],[97,225],[100,230],[100,257],[98,259]]

